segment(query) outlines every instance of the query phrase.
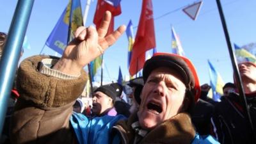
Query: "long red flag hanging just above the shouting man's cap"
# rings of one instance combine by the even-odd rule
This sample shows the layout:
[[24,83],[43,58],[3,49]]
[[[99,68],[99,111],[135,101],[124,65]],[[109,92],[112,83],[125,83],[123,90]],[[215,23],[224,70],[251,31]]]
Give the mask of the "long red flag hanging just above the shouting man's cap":
[[132,59],[129,72],[134,76],[143,68],[145,63],[145,52],[156,47],[153,6],[151,0],[143,0],[140,23],[132,47]]

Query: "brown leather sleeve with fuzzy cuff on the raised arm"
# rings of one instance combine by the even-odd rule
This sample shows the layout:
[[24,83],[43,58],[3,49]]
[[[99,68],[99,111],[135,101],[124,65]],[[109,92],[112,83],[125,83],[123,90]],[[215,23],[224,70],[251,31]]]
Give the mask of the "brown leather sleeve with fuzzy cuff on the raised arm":
[[22,61],[17,76],[20,98],[11,122],[12,143],[76,143],[69,124],[74,100],[83,92],[87,75],[65,80],[38,72],[49,56]]

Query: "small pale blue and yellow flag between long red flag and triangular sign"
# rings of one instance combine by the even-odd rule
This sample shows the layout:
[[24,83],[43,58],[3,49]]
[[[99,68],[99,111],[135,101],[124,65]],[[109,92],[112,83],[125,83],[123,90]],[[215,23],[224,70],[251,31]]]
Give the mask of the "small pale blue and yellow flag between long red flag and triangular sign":
[[180,56],[185,56],[179,36],[176,35],[176,32],[173,26],[172,26],[172,52],[174,54],[179,54]]

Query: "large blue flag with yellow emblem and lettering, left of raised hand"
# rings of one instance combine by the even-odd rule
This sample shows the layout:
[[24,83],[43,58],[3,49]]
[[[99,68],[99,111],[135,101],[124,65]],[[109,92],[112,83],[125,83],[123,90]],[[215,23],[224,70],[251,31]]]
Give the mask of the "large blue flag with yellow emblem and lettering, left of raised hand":
[[[72,17],[72,19],[70,19]],[[74,38],[73,32],[83,26],[80,0],[70,0],[60,19],[47,38],[45,45],[62,54],[68,42]]]

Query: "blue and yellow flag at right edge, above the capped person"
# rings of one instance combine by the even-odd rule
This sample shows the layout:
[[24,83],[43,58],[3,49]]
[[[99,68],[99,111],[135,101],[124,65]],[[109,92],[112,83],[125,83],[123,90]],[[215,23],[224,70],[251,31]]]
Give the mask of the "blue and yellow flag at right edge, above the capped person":
[[238,63],[245,62],[245,61],[256,63],[256,57],[251,52],[246,51],[246,49],[243,49],[236,44],[234,44],[234,46],[235,46],[236,59]]

